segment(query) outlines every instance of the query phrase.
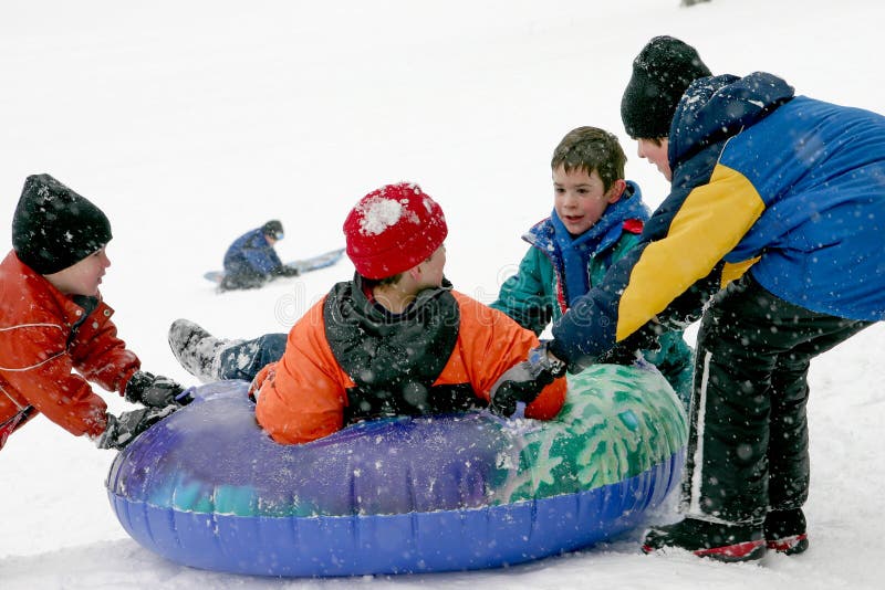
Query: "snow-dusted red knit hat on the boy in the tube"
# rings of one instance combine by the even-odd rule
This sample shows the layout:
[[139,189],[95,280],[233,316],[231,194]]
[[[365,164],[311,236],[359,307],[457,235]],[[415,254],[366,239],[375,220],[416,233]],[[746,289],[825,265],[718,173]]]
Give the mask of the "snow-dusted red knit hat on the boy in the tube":
[[442,209],[417,185],[386,185],[344,220],[347,256],[366,278],[394,276],[427,260],[448,234]]

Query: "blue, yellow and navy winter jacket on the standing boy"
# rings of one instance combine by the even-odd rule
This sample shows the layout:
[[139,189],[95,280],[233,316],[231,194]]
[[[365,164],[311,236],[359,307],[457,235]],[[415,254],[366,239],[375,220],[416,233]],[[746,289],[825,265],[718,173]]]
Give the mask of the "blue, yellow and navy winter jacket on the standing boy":
[[684,326],[750,268],[814,312],[885,317],[885,117],[804,96],[767,73],[695,81],[669,133],[670,194],[553,326],[572,368],[641,328]]

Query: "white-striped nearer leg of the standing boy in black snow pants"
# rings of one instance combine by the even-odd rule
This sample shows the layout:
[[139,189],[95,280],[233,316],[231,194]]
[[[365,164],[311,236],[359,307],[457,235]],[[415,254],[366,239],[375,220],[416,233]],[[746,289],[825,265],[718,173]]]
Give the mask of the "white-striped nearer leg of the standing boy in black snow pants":
[[[680,509],[689,518],[761,528],[768,481],[768,384],[775,354],[750,344],[768,320],[743,281],[714,297],[695,351]],[[760,315],[762,316],[760,318]]]

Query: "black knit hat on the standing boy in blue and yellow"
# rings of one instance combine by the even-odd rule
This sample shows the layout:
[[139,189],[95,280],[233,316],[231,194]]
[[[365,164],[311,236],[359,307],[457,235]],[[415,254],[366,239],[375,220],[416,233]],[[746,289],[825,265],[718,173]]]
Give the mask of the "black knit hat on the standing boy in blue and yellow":
[[711,75],[698,52],[678,39],[656,36],[633,60],[633,76],[621,99],[621,118],[634,138],[667,137],[688,85]]

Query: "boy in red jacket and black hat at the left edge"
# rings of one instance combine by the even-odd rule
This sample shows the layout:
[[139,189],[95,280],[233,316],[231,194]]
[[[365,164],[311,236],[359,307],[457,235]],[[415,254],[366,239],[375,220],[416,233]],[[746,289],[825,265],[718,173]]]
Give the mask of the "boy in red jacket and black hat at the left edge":
[[[101,449],[122,449],[187,400],[181,387],[140,371],[117,338],[98,285],[111,261],[105,214],[49,175],[30,176],[0,263],[0,447],[43,413]],[[145,408],[107,413],[87,381]]]

